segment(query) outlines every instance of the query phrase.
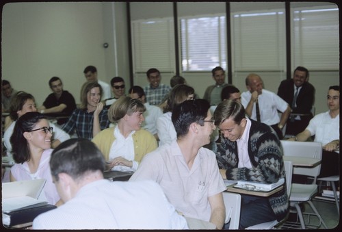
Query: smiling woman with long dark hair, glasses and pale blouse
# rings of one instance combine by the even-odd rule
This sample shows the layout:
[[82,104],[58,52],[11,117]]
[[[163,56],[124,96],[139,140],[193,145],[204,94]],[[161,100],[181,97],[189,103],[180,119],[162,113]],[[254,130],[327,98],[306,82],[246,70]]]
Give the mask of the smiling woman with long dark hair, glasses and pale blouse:
[[51,205],[60,205],[62,201],[53,183],[49,166],[53,151],[52,135],[53,127],[50,127],[47,118],[38,112],[27,112],[16,120],[10,138],[16,164],[10,170],[10,181],[46,179],[40,198],[46,198]]

